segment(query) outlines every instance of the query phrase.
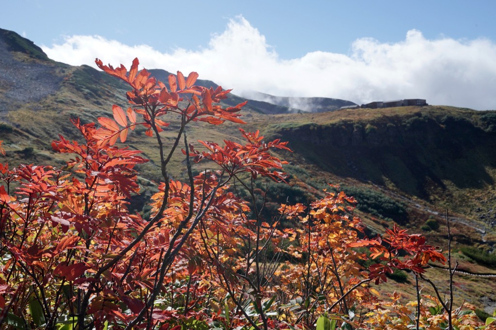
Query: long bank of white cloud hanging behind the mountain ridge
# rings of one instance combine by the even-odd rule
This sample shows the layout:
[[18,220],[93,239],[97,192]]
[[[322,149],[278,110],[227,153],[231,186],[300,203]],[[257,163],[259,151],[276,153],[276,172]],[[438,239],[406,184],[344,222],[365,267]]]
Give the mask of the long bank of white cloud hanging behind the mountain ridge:
[[147,45],[128,46],[100,36],[65,37],[63,44],[42,48],[50,58],[71,65],[94,66],[99,57],[128,67],[138,57],[147,68],[194,70],[239,95],[256,90],[359,104],[425,98],[430,104],[496,109],[496,44],[487,39],[428,40],[410,30],[398,43],[358,39],[350,56],[317,51],[282,60],[256,28],[238,17],[199,50],[160,53]]

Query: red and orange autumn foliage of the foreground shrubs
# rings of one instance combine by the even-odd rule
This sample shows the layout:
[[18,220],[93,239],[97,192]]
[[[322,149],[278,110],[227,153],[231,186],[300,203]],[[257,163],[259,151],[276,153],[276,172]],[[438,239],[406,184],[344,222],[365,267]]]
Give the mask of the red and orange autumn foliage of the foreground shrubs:
[[[137,59],[129,71],[96,64],[129,85],[129,107],[114,105],[99,125],[74,120],[81,140],[61,135],[52,143],[71,157],[63,168],[0,164],[2,325],[410,329],[415,313],[425,329],[447,324],[446,312],[431,308],[441,297],[419,298],[421,305],[414,302],[410,310],[396,295],[379,300],[369,285],[385,282],[395,268],[420,277],[429,262],[444,263],[424,237],[396,226],[382,237],[364,237],[355,199],[332,189],[308,205],[281,204],[276,216],[262,218],[263,198],[253,181],[286,184],[285,162],[275,152],[290,152],[287,142],[265,142],[260,132],[243,129],[236,141],[187,142],[191,122],[244,124],[246,102],[221,103],[230,90],[195,85],[196,72],[157,81],[138,70]],[[180,127],[166,145],[161,132],[171,116]],[[139,193],[136,165],[148,160],[117,146],[138,126],[155,139],[162,174],[148,218],[128,211],[129,198]],[[186,182],[169,177],[174,153],[184,156]],[[193,175],[192,162],[210,169]],[[375,260],[370,267],[364,266],[368,259]],[[452,314],[459,329],[478,326],[473,313]]]

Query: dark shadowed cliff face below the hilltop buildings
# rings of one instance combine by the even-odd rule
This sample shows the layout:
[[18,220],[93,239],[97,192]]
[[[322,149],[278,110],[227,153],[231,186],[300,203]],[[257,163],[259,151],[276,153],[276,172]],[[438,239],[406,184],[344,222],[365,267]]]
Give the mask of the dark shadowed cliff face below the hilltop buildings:
[[370,121],[309,123],[279,133],[325,171],[379,185],[391,182],[421,198],[444,189],[446,181],[458,188],[493,185],[488,169],[496,168],[496,114],[423,109]]

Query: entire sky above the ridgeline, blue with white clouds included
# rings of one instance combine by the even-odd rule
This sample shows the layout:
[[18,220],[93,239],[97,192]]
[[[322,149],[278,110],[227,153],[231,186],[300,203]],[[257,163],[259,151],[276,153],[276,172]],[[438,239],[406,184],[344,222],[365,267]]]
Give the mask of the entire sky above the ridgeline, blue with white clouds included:
[[[198,71],[249,96],[496,109],[496,1],[2,3],[0,28],[72,65]],[[6,14],[5,14],[6,13]]]

